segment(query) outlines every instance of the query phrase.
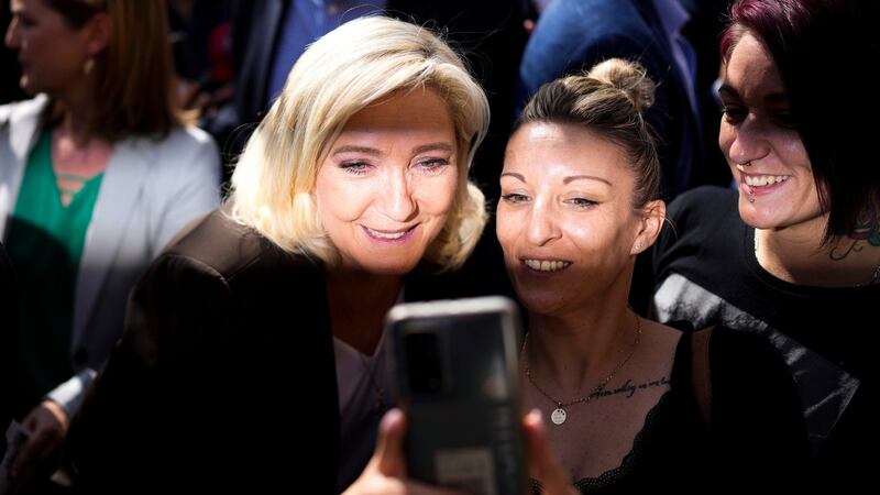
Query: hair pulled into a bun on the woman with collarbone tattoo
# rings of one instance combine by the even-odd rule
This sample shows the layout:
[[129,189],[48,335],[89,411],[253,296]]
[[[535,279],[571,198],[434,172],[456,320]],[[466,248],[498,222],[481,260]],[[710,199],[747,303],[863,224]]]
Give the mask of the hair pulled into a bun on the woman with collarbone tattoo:
[[654,84],[636,62],[609,58],[588,73],[548,82],[531,98],[516,123],[581,125],[617,144],[636,175],[634,208],[660,190],[657,140],[644,111],[654,101]]

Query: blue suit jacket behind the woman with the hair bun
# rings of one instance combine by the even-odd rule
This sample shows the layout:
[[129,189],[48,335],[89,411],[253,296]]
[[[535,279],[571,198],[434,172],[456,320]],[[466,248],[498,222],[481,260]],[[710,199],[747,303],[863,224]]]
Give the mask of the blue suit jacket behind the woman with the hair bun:
[[691,187],[693,170],[702,166],[703,143],[651,0],[554,0],[522,55],[519,109],[544,82],[613,57],[637,59],[658,82],[647,118],[660,138],[661,193],[671,199]]

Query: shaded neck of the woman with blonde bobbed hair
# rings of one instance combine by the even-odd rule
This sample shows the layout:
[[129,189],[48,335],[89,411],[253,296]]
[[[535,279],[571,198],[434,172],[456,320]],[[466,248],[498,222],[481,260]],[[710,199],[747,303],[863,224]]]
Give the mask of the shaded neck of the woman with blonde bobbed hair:
[[404,278],[334,270],[326,275],[333,336],[372,355],[382,338],[385,314],[397,300]]

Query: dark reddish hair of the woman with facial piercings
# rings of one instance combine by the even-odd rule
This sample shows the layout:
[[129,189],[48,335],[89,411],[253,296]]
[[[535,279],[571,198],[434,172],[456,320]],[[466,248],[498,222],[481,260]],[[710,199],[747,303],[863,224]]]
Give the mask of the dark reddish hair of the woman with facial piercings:
[[829,213],[825,242],[851,235],[880,207],[880,102],[866,68],[880,59],[878,13],[875,0],[739,0],[722,36],[725,62],[746,32],[773,57]]

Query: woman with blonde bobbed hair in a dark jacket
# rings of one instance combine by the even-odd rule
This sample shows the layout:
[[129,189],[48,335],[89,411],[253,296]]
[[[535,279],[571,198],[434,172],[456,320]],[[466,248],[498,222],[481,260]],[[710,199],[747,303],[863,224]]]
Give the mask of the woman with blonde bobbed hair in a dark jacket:
[[294,66],[228,204],[153,264],[72,428],[86,488],[344,490],[391,407],[382,321],[486,219],[480,86],[430,31],[343,24]]

